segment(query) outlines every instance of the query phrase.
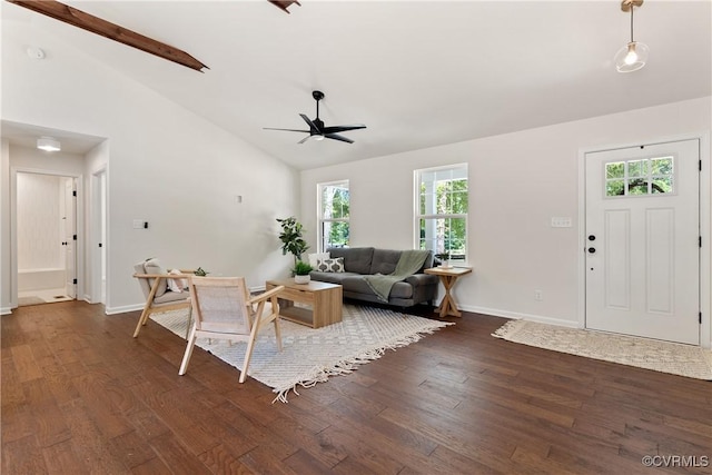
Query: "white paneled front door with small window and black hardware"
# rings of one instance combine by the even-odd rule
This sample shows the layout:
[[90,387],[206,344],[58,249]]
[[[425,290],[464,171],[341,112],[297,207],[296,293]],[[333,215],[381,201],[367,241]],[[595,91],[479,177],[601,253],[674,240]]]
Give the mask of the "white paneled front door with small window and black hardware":
[[700,344],[700,144],[586,154],[586,328]]

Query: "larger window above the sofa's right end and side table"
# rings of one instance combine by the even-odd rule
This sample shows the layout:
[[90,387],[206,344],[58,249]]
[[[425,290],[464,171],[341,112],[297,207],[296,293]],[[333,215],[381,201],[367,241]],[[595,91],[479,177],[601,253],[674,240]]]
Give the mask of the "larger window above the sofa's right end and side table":
[[467,260],[467,165],[415,170],[416,247]]

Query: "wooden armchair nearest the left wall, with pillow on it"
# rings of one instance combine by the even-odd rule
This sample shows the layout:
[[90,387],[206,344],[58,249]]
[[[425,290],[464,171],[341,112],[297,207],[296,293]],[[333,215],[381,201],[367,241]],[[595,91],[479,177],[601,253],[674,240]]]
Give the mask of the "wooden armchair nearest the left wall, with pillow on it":
[[188,309],[188,330],[190,329],[191,306],[190,293],[188,290],[174,291],[168,288],[168,279],[185,279],[186,281],[192,276],[192,270],[180,269],[180,274],[170,274],[164,271],[156,259],[149,259],[134,265],[134,277],[138,279],[141,291],[146,297],[144,311],[138,319],[134,338],[141,330],[141,327],[148,321],[148,317],[154,313],[178,310],[180,308]]

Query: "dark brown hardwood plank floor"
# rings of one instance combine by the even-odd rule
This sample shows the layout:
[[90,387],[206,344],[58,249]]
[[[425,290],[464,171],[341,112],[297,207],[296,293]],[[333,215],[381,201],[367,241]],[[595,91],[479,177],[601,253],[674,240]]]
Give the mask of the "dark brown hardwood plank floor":
[[178,376],[185,342],[132,338],[138,315],[1,317],[2,474],[712,473],[712,383],[493,338],[503,318],[465,314],[271,404],[199,348]]

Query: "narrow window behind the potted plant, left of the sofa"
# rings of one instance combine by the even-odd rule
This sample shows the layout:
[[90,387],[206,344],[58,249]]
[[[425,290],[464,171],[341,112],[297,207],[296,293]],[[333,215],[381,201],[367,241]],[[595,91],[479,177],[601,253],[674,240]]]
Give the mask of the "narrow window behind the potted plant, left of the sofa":
[[318,184],[319,251],[348,247],[348,180]]

